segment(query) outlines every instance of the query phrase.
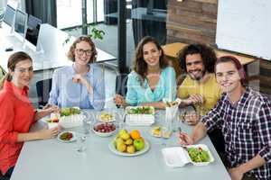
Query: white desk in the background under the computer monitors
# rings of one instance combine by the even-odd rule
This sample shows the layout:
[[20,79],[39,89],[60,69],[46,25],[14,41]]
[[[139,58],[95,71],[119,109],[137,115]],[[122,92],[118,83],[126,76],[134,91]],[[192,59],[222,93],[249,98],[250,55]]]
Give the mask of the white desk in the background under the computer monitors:
[[[34,71],[70,65],[72,62],[67,58],[66,54],[75,38],[71,37],[68,43],[63,43],[68,36],[68,33],[56,29],[49,24],[42,24],[37,45],[42,47],[42,51],[36,52],[29,48],[29,46],[23,46],[23,41],[17,37],[6,35],[5,31],[0,28],[0,66],[7,70],[6,66],[9,56],[20,50],[25,51],[33,58]],[[7,44],[12,45],[14,50],[9,52],[5,51],[6,46],[9,46]],[[97,48],[97,50],[97,63],[117,59],[101,49]]]

